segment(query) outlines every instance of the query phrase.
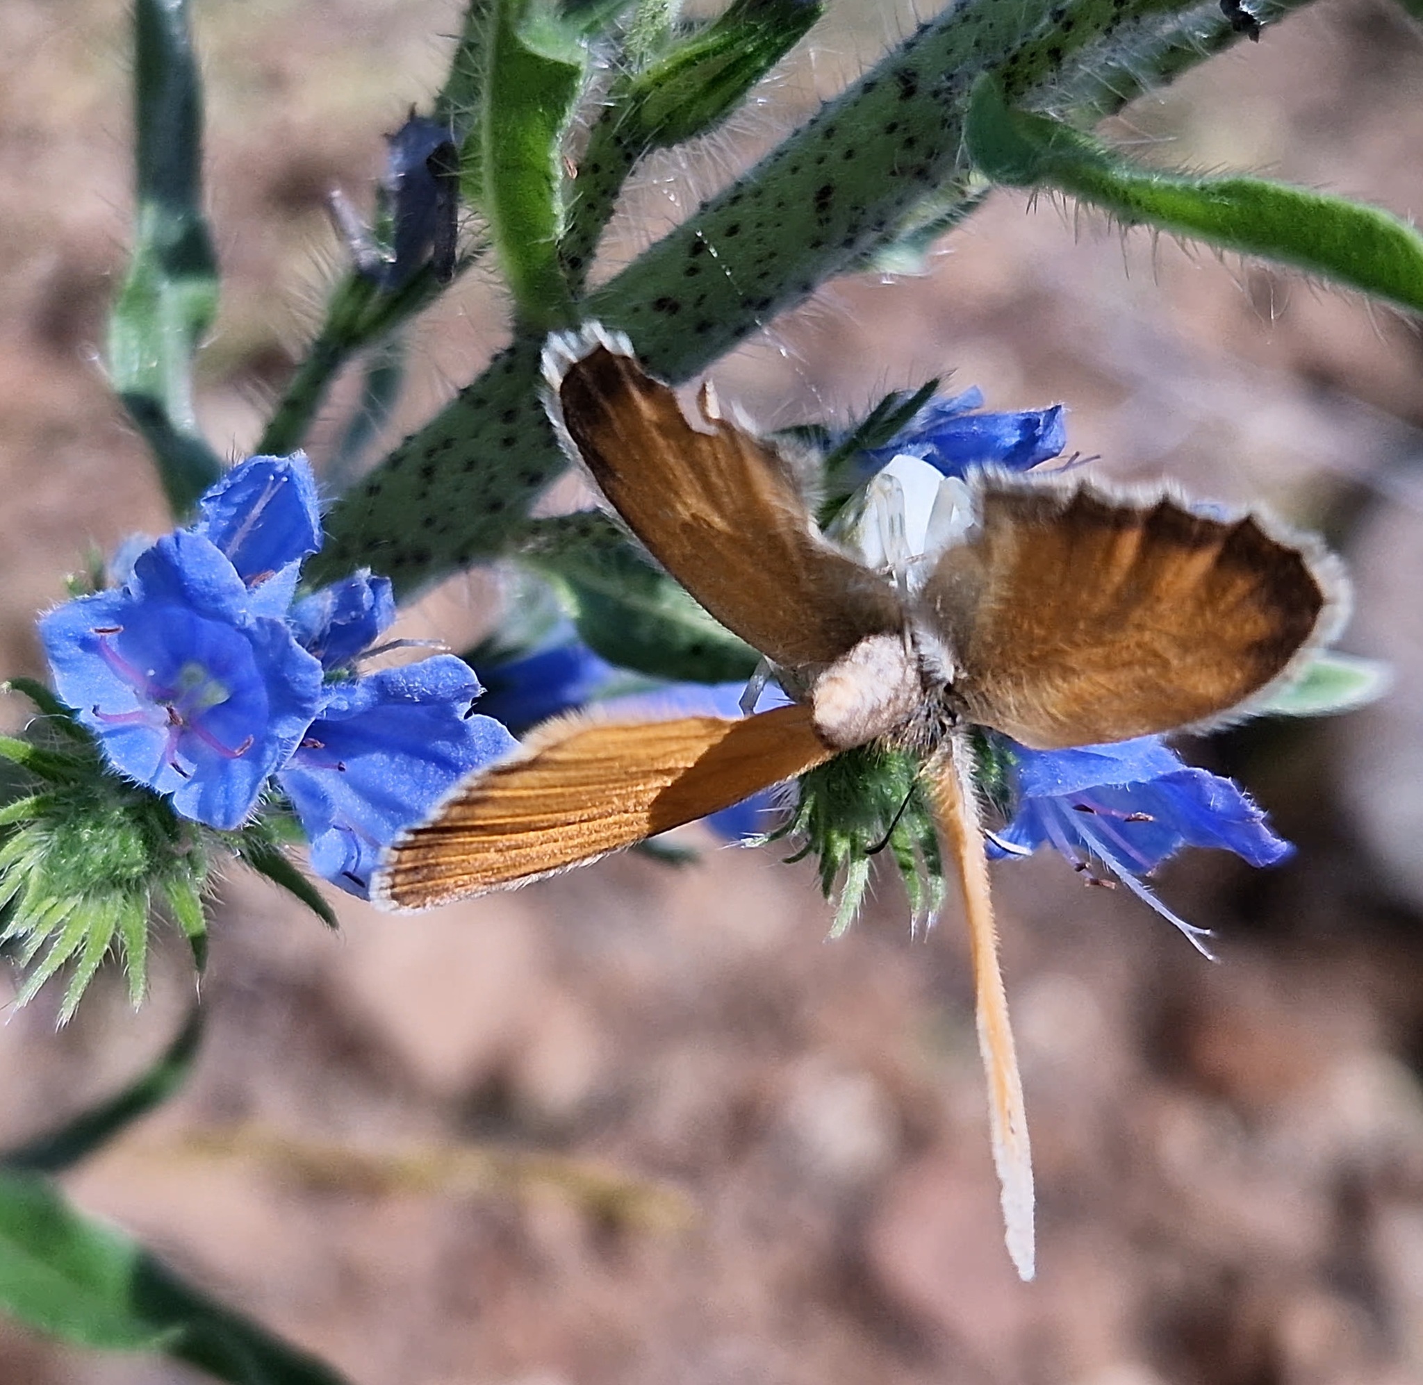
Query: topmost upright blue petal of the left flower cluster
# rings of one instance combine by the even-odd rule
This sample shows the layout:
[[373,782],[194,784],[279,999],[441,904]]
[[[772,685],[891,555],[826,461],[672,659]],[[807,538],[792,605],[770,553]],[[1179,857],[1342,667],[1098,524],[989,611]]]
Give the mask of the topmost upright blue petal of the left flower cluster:
[[208,491],[199,509],[194,532],[216,545],[249,587],[322,546],[316,478],[305,452],[249,458]]

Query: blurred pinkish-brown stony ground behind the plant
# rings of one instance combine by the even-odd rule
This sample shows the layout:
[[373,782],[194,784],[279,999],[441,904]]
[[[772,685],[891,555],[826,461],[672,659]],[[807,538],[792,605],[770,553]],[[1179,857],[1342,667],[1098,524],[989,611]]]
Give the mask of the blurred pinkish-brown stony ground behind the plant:
[[[0,0],[0,653],[90,542],[164,528],[94,363],[129,206],[120,6]],[[199,6],[226,280],[202,412],[233,455],[333,262],[322,199],[438,81],[435,0]],[[652,168],[626,257],[909,20],[848,9],[693,166]],[[1322,0],[1117,127],[1164,159],[1423,205],[1423,38]],[[928,277],[841,282],[717,370],[768,424],[956,371],[1064,400],[1099,474],[1180,478],[1326,528],[1345,646],[1397,688],[1326,724],[1190,747],[1301,846],[1197,853],[1161,893],[1211,966],[1057,859],[999,867],[1040,1186],[1012,1277],[955,909],[909,937],[896,883],[834,944],[804,866],[629,856],[428,917],[349,902],[339,937],[235,875],[184,1092],[65,1179],[359,1385],[1403,1385],[1423,1381],[1423,350],[1362,300],[999,193]],[[417,333],[406,422],[504,330],[488,282]],[[320,446],[314,454],[320,456]],[[457,644],[487,592],[410,621]],[[11,714],[18,718],[18,710]],[[111,1091],[192,994],[161,939],[54,1032],[0,1028],[0,1139]],[[157,1359],[0,1325],[0,1381],[159,1385]]]

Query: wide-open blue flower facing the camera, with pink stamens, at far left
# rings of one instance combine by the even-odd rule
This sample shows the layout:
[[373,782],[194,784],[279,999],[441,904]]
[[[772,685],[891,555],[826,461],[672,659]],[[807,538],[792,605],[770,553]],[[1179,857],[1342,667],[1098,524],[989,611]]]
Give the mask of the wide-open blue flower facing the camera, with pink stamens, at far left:
[[322,665],[206,538],[178,530],[114,592],[40,621],[54,685],[120,774],[235,829],[322,704]]

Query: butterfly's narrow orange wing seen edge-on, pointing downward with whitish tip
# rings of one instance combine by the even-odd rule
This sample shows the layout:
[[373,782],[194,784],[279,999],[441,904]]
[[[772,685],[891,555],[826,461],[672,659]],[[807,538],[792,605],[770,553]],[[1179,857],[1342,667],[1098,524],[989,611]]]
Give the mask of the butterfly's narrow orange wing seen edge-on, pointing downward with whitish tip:
[[973,747],[962,731],[929,762],[929,798],[949,855],[959,867],[969,924],[973,981],[978,990],[978,1035],[988,1076],[993,1165],[1003,1202],[1007,1253],[1022,1278],[1033,1277],[1033,1160],[1027,1146],[1023,1082],[1017,1074],[1007,995],[998,966],[998,930],[989,897],[988,857],[973,785]]

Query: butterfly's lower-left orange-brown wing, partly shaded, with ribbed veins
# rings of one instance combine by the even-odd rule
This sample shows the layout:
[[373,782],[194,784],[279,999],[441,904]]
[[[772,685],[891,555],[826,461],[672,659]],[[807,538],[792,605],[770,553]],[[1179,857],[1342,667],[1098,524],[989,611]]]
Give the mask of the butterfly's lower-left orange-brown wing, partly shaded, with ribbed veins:
[[737,721],[561,718],[401,833],[371,899],[414,910],[525,884],[730,808],[831,754],[800,704]]

